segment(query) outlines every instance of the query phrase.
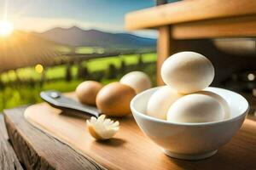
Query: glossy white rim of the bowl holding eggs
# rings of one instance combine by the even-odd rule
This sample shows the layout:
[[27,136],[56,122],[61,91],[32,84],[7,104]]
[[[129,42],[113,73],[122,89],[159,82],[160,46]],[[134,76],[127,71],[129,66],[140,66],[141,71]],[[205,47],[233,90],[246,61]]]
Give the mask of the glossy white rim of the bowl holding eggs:
[[237,94],[236,92],[233,92],[231,90],[227,90],[227,89],[224,89],[224,88],[215,88],[215,87],[208,87],[208,88],[205,88],[205,89],[219,89],[219,90],[224,90],[224,91],[228,91],[229,93],[233,93],[233,94],[237,94],[239,97],[241,97],[241,99],[244,99],[244,101],[246,102],[246,105],[247,105],[247,109],[246,111],[244,111],[241,115],[239,116],[234,116],[232,118],[229,118],[229,119],[225,119],[225,120],[222,120],[222,121],[218,121],[218,122],[168,122],[166,120],[162,120],[162,119],[158,119],[156,117],[153,117],[153,116],[148,116],[148,115],[145,115],[143,113],[141,113],[140,111],[137,111],[134,107],[135,105],[135,101],[140,98],[143,94],[146,94],[148,93],[148,91],[152,91],[156,88],[161,88],[163,86],[159,86],[159,87],[155,87],[155,88],[149,88],[145,91],[143,91],[142,93],[139,93],[137,94],[133,99],[131,99],[131,103],[130,103],[130,107],[131,107],[131,112],[132,112],[132,115],[134,115],[134,113],[136,113],[138,116],[142,116],[143,118],[145,119],[148,119],[149,121],[153,121],[153,122],[160,122],[160,123],[164,123],[164,124],[168,124],[168,125],[176,125],[176,126],[206,126],[206,125],[218,125],[218,124],[224,124],[226,122],[234,122],[236,120],[239,120],[241,119],[242,117],[245,117],[247,116],[247,112],[249,111],[250,109],[250,106],[248,104],[248,101],[247,99],[245,99],[241,94]]

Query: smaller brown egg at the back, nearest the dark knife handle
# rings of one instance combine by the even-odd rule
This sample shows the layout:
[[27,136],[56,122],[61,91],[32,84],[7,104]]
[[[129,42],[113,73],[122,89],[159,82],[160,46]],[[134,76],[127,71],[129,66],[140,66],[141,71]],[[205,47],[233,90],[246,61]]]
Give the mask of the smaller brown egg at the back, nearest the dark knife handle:
[[96,105],[96,95],[103,88],[100,82],[85,81],[81,82],[76,89],[79,101],[86,105]]

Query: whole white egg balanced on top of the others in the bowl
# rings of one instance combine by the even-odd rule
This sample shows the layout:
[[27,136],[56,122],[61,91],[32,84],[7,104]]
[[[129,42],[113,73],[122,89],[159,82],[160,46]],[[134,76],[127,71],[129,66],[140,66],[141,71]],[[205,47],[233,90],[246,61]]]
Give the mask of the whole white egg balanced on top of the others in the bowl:
[[201,54],[181,52],[165,60],[161,77],[177,92],[191,94],[212,83],[214,68],[211,61]]

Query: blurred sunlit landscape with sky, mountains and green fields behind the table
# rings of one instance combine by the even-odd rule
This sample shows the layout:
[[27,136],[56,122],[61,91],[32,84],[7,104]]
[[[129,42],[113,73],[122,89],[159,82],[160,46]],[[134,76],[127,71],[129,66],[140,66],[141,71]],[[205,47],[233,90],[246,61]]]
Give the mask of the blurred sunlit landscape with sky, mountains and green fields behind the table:
[[[55,5],[53,5],[55,4]],[[73,91],[84,80],[145,71],[155,83],[155,31],[125,32],[125,13],[154,1],[0,2],[0,111]],[[54,8],[52,8],[54,7]]]

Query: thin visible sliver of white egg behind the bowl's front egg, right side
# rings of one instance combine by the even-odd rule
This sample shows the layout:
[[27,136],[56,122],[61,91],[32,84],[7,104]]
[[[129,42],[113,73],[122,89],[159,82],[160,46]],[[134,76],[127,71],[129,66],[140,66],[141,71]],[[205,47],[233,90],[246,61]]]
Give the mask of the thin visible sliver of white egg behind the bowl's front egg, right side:
[[214,99],[217,99],[218,102],[220,103],[220,105],[222,105],[224,108],[224,119],[230,118],[230,106],[229,106],[228,102],[223,97],[221,97],[220,95],[215,94],[213,92],[204,91],[204,90],[197,92],[196,94],[207,94],[209,96],[212,96]]

